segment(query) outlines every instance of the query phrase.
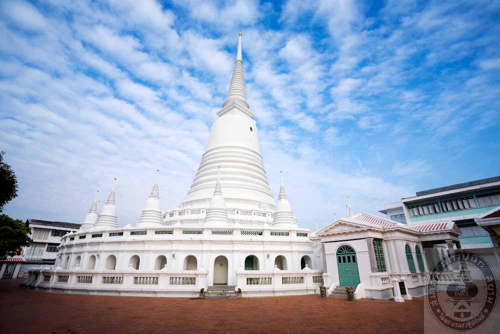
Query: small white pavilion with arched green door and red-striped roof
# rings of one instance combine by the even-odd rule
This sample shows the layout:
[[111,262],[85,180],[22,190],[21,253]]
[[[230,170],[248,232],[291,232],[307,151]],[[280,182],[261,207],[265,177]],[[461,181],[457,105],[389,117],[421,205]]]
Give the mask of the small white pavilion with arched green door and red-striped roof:
[[[437,264],[447,280],[454,279],[445,258],[460,248],[453,222],[411,226],[368,213],[342,217],[313,236],[324,245],[324,284],[335,295],[346,286],[356,298],[404,301],[422,296],[429,269]],[[445,244],[446,248],[439,246]]]

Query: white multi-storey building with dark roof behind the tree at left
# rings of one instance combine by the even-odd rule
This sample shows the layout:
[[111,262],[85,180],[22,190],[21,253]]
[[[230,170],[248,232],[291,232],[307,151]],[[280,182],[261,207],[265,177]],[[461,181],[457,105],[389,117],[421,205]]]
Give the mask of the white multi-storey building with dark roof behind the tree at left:
[[80,228],[80,224],[38,219],[27,219],[26,224],[31,228],[31,245],[22,247],[20,255],[3,261],[0,278],[23,277],[29,269],[55,264],[61,237]]

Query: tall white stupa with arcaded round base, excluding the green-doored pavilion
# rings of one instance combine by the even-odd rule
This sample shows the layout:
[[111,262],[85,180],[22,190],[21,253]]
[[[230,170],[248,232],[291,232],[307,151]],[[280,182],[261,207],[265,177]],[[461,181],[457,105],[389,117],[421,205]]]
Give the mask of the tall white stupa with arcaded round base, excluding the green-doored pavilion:
[[32,270],[28,285],[157,296],[196,296],[213,285],[243,295],[314,293],[320,244],[313,251],[282,178],[274,199],[245,94],[240,34],[227,99],[184,201],[162,213],[156,177],[136,226],[119,228],[113,186],[100,213],[94,202],[81,228],[62,238],[56,267]]

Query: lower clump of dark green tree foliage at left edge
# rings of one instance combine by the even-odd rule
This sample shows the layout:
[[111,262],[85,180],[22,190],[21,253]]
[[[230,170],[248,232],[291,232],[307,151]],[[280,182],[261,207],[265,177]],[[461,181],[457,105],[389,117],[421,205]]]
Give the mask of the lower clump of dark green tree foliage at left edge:
[[29,246],[31,229],[20,219],[0,214],[0,261],[7,256],[19,255],[21,247]]

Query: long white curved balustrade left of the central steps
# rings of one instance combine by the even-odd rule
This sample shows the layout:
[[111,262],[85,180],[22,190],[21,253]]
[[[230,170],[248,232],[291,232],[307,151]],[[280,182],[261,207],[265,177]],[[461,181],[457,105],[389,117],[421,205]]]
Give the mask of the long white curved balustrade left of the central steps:
[[[32,269],[24,282],[28,287],[49,291],[71,291],[84,293],[88,290],[105,290],[106,294],[137,293],[143,291],[156,295],[189,296],[207,288],[208,271],[200,270],[65,270]],[[45,280],[44,277],[55,279]],[[154,287],[154,289],[153,289]],[[142,292],[141,292],[142,291]]]

